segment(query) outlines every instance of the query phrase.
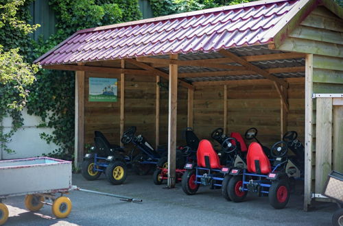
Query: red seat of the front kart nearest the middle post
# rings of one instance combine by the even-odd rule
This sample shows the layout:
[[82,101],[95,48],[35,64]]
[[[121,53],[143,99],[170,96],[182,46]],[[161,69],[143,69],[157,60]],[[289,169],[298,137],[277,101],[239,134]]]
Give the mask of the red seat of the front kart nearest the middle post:
[[[198,159],[198,166],[208,168],[222,168],[223,166],[220,165],[220,160],[213,149],[211,142],[209,140],[201,140],[199,143],[198,151],[196,153],[196,157]],[[209,166],[206,166],[206,159],[208,161]]]

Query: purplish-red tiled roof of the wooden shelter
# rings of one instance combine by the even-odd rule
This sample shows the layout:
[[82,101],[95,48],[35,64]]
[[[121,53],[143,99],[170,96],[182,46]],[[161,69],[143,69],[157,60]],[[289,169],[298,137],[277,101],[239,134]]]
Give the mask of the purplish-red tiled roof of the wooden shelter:
[[272,42],[272,29],[287,23],[287,13],[300,1],[257,1],[84,29],[36,62],[71,64],[261,45]]

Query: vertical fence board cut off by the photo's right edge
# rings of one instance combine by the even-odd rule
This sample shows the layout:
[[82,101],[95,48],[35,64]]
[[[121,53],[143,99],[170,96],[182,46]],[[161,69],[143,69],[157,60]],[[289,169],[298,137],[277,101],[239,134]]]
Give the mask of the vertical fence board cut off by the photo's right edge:
[[333,107],[332,169],[343,172],[343,101]]

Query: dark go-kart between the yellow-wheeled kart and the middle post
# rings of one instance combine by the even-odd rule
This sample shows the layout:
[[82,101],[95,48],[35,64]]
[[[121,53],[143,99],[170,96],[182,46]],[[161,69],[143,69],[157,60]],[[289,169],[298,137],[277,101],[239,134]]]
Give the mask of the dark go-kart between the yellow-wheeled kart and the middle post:
[[[130,142],[134,145],[130,153],[132,168],[138,175],[147,175],[153,167],[158,166],[160,168],[168,167],[167,149],[160,147],[155,150],[152,145],[141,135],[135,136],[136,127],[129,127],[121,138],[121,142],[124,145],[128,145]],[[133,153],[138,147],[139,154],[133,157]],[[182,154],[179,150],[176,151],[176,167],[185,165]]]

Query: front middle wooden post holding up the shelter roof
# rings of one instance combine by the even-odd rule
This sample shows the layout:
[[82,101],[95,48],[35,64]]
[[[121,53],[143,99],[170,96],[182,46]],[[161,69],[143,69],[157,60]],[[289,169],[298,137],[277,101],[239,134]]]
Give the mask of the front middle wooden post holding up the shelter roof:
[[[170,55],[178,60],[178,55]],[[178,64],[169,64],[169,116],[168,116],[168,181],[174,188],[176,183],[176,116],[178,105]]]

